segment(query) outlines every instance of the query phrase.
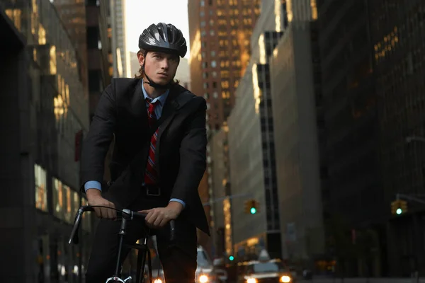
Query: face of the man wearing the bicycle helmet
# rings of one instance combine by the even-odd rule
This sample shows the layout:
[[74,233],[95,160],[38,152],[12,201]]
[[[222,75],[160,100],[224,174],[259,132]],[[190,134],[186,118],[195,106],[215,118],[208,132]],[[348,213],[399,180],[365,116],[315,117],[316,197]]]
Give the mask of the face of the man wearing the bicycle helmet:
[[140,66],[145,63],[145,74],[159,84],[166,84],[174,79],[180,62],[178,55],[164,52],[147,52],[146,58],[139,53],[138,58]]

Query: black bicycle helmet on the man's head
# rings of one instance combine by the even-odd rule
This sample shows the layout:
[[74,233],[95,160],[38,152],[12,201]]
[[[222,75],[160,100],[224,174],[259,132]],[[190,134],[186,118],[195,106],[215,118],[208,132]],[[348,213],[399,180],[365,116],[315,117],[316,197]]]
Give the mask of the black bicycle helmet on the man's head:
[[183,33],[171,23],[149,25],[139,37],[139,48],[145,51],[178,54],[182,58],[188,51]]

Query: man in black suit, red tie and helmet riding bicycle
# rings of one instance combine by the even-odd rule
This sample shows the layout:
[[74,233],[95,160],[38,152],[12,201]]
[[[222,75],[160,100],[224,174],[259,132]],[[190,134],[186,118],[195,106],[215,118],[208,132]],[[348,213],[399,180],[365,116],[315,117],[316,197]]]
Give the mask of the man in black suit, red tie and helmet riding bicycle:
[[[82,154],[83,190],[91,205],[147,213],[145,223],[128,224],[128,243],[157,235],[167,283],[195,280],[196,227],[209,234],[198,195],[206,167],[205,99],[174,81],[187,51],[174,25],[150,25],[139,39],[140,76],[113,79],[103,91]],[[103,169],[111,141],[111,180],[102,192]],[[103,193],[103,194],[102,194]],[[119,221],[113,209],[96,207],[100,218],[86,282],[103,283],[115,268]],[[166,225],[176,219],[173,243]],[[128,255],[123,252],[122,261]]]

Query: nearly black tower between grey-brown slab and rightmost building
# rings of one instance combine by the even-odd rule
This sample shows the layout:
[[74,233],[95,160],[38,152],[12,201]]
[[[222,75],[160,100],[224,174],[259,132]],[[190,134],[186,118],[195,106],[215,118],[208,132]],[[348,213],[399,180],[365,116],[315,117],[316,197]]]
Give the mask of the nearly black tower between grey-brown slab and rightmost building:
[[[368,276],[380,276],[385,272],[385,217],[390,207],[383,192],[389,187],[380,180],[377,101],[381,98],[375,91],[368,1],[323,0],[318,1],[318,10],[329,175],[328,251],[339,258],[348,276],[364,276],[365,270]],[[367,253],[350,259],[349,247],[337,243],[352,243],[348,235],[356,235],[360,243],[362,234],[370,237]],[[347,236],[331,243],[337,235]]]

